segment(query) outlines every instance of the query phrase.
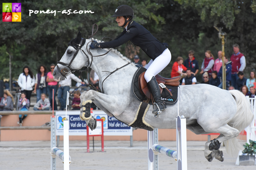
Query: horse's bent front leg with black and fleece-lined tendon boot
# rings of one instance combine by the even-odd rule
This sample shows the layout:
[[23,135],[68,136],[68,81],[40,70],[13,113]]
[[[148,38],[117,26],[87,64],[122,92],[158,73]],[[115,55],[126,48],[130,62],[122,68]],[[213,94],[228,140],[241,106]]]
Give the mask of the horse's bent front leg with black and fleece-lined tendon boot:
[[105,95],[94,90],[83,92],[80,96],[80,100],[80,118],[81,120],[85,120],[91,130],[94,130],[97,126],[96,119],[90,114],[90,104],[92,102],[96,103],[97,106],[100,106],[99,108],[111,117],[113,115],[120,115],[123,112],[122,108],[125,108],[121,107],[124,106],[125,103],[121,102],[117,96]]

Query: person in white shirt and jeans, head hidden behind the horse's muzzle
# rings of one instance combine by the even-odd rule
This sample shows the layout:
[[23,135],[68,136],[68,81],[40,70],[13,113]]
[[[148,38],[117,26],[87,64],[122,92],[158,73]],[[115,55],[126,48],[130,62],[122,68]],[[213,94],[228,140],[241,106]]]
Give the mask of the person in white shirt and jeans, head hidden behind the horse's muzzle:
[[76,81],[78,83],[85,84],[84,82],[82,82],[81,79],[76,77],[74,74],[68,75],[67,79],[59,82],[58,99],[60,102],[60,110],[66,109],[67,92],[69,91],[69,89],[71,87],[71,79],[73,79],[74,81]]

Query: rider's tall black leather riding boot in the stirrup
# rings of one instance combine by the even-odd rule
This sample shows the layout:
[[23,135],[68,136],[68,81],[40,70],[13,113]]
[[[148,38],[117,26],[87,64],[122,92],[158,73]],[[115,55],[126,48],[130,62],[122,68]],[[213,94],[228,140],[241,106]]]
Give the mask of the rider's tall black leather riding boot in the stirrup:
[[[155,77],[152,77],[152,79],[147,83],[147,86],[150,88],[150,91],[156,103],[153,105],[154,111],[152,112],[152,114],[155,114],[155,117],[157,117],[160,114],[159,109],[161,112],[164,111],[166,109],[166,105],[165,102],[161,100],[159,85]],[[159,107],[159,109],[157,106]]]

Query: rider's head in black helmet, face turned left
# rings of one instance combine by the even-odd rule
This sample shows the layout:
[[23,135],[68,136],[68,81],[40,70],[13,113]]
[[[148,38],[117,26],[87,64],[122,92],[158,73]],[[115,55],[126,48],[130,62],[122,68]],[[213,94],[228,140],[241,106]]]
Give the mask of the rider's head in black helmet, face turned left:
[[133,10],[128,5],[120,5],[116,8],[114,15],[111,17],[116,17],[116,22],[119,27],[126,27],[127,24],[133,19]]

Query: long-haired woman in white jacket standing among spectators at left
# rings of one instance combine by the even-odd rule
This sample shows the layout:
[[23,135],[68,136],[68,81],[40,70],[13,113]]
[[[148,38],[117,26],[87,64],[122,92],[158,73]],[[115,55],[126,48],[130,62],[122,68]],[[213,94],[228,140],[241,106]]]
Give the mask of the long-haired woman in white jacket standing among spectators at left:
[[23,73],[19,74],[18,85],[21,92],[25,92],[27,99],[30,101],[33,86],[35,85],[35,77],[28,66],[23,67]]

